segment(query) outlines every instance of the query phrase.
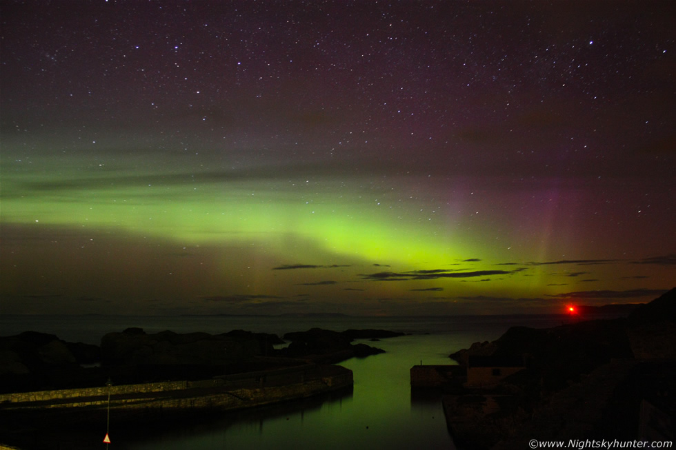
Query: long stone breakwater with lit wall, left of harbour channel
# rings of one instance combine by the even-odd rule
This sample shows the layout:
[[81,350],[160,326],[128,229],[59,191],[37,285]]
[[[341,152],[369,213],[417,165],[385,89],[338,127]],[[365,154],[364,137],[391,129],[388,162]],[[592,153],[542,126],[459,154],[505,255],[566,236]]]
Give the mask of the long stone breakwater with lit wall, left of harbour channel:
[[306,398],[352,383],[349,369],[310,364],[208,380],[7,393],[0,395],[0,411],[91,411],[107,408],[109,402],[115,410],[230,411]]

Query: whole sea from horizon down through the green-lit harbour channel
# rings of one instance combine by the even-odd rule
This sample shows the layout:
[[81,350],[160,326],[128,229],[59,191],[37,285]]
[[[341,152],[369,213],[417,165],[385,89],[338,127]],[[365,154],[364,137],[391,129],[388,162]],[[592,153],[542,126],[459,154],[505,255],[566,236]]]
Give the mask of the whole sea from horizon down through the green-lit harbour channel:
[[[599,318],[599,317],[595,317]],[[495,340],[513,326],[547,328],[570,323],[570,316],[0,316],[0,336],[32,330],[68,342],[99,345],[109,332],[128,327],[146,333],[233,329],[284,336],[319,327],[387,329],[405,336],[364,340],[385,353],[339,364],[354,374],[352,390],[199,420],[161,426],[117,425],[110,417],[110,445],[128,450],[208,449],[455,449],[437,396],[410,389],[414,365],[455,364],[448,355],[473,342]],[[101,436],[101,440],[103,436]],[[101,440],[92,442],[101,448]]]

